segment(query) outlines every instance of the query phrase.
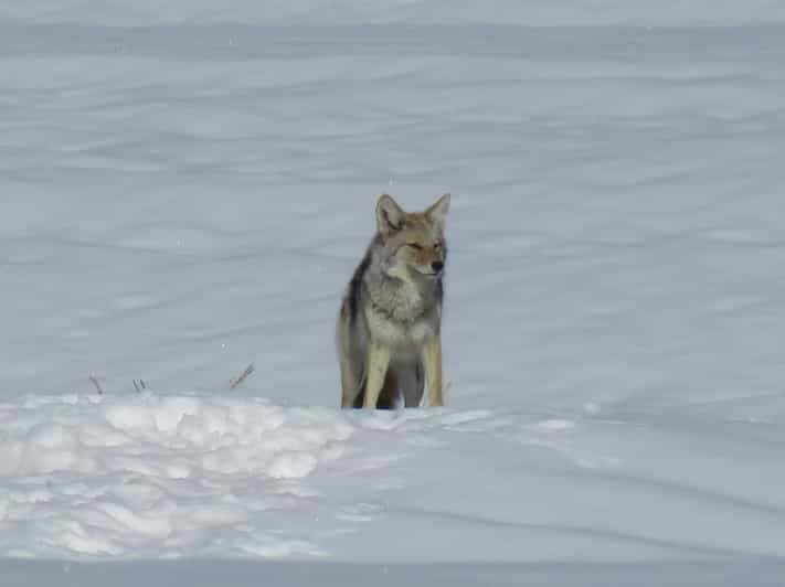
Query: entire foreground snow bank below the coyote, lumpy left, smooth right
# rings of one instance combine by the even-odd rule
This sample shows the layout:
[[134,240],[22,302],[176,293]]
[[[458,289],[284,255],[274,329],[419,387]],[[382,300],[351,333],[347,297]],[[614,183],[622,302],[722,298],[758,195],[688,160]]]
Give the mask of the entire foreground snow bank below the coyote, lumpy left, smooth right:
[[[400,534],[388,562],[783,554],[782,498],[768,491],[783,479],[756,465],[774,457],[763,438],[597,409],[367,415],[149,391],[29,396],[0,406],[0,545],[22,558],[348,562],[378,559]],[[470,542],[449,540],[466,532]]]

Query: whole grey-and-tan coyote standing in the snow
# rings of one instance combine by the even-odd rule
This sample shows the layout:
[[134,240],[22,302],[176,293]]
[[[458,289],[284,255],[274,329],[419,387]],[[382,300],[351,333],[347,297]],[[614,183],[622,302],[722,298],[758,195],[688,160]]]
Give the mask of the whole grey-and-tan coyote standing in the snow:
[[338,316],[341,406],[416,407],[425,380],[432,406],[442,397],[442,302],[449,194],[407,213],[384,194],[376,235],[354,270]]

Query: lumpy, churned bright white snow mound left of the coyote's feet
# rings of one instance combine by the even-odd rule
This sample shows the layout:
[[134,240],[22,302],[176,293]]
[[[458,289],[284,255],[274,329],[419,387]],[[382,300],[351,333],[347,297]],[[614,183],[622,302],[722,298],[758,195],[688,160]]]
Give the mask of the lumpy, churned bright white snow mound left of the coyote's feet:
[[[259,398],[0,404],[0,551],[17,557],[320,554],[272,530],[341,453],[340,413]],[[36,540],[31,540],[35,536]]]

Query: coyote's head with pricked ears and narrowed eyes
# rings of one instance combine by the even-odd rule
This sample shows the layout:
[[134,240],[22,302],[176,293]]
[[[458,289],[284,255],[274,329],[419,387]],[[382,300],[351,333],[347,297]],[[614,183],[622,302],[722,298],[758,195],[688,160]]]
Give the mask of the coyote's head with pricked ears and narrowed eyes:
[[382,244],[382,269],[405,281],[437,278],[444,271],[447,245],[444,221],[449,194],[424,212],[405,212],[384,194],[376,204],[376,224]]

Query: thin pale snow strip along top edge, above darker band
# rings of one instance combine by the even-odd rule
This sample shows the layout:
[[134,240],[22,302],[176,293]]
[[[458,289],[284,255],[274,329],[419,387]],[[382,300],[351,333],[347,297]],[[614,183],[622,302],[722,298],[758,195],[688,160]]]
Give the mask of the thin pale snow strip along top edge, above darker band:
[[210,0],[36,0],[0,6],[0,19],[22,23],[117,25],[237,23],[254,25],[503,24],[517,26],[685,26],[775,24],[785,9],[773,0],[235,0],[216,7]]

